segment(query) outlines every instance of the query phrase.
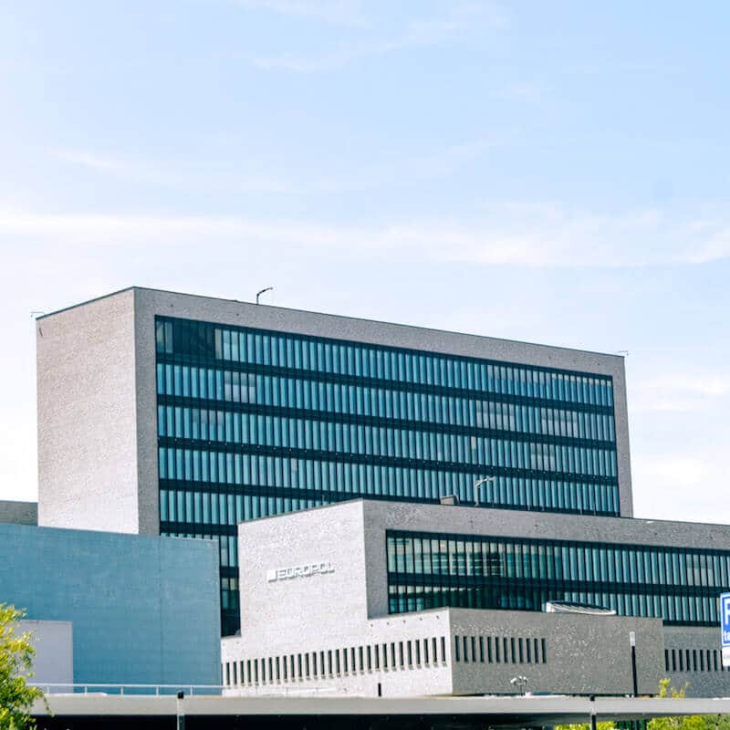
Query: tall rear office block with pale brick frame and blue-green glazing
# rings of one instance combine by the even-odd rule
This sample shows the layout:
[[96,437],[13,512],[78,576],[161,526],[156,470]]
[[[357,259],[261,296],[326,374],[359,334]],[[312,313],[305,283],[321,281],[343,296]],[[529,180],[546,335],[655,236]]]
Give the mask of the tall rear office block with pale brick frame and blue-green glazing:
[[245,520],[632,514],[620,357],[137,287],[36,326],[39,524],[213,537],[226,634]]

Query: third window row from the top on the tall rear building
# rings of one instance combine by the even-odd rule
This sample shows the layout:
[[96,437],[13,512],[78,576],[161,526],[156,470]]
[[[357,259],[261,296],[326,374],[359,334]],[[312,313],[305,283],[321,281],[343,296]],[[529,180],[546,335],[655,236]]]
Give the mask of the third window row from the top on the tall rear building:
[[158,406],[160,437],[615,477],[615,449]]

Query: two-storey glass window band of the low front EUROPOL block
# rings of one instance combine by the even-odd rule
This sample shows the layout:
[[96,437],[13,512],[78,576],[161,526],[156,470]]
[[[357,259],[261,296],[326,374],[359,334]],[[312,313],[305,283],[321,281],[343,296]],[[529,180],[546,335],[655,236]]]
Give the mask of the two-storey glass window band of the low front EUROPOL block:
[[715,626],[730,552],[389,531],[389,610],[543,610],[568,600]]

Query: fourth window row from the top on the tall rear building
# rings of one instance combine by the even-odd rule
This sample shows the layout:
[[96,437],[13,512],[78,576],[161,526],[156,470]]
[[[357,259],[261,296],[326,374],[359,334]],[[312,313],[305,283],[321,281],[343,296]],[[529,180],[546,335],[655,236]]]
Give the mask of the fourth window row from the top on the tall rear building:
[[[162,480],[432,502],[444,495],[456,495],[462,502],[474,504],[474,474],[465,472],[165,446],[158,453]],[[298,498],[291,493],[281,496]],[[485,484],[481,496],[483,506],[597,515],[619,513],[617,485],[499,475],[495,482]]]

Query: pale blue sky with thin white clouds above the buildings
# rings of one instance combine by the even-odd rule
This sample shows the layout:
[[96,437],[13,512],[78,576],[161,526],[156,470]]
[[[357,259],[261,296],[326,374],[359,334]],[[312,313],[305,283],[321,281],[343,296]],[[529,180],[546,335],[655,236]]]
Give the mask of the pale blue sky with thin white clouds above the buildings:
[[628,352],[635,514],[730,523],[730,4],[0,0],[0,498],[131,285]]

